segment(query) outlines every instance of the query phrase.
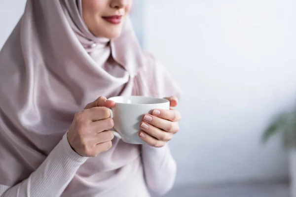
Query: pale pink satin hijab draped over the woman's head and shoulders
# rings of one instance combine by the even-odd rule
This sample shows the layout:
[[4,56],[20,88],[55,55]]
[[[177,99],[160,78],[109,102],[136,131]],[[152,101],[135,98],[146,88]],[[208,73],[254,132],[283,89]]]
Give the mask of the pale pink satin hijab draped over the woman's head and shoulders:
[[[27,0],[0,52],[0,184],[12,186],[36,170],[75,112],[99,96],[117,95],[178,96],[179,90],[142,52],[129,18],[110,41],[88,31],[81,0]],[[139,145],[114,138],[110,151],[80,170],[108,172],[139,155]]]

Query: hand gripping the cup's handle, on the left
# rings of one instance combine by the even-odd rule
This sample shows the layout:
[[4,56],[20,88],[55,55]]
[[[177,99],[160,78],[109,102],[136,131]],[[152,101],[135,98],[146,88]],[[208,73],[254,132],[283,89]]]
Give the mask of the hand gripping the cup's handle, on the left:
[[112,147],[114,138],[114,122],[110,118],[108,108],[114,102],[99,97],[86,105],[84,110],[75,113],[74,120],[68,131],[68,141],[76,153],[84,157],[96,157]]

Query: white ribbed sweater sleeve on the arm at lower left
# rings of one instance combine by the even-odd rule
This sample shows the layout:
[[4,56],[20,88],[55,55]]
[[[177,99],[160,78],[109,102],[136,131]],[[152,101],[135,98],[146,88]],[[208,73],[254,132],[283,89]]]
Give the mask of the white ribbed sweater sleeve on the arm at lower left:
[[67,133],[44,162],[27,179],[13,187],[0,185],[1,197],[58,197],[87,160],[75,153]]

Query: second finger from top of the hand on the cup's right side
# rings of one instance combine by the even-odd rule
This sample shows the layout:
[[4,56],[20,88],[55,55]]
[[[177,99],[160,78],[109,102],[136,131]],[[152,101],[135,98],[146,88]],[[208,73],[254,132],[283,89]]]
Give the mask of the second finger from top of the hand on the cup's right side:
[[150,114],[145,114],[143,121],[164,131],[176,133],[179,131],[179,123],[165,120]]

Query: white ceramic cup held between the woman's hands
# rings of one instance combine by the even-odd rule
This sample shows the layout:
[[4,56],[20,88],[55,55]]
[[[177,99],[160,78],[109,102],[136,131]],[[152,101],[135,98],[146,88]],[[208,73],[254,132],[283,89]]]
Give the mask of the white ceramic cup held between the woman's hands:
[[111,118],[114,120],[114,136],[130,144],[143,144],[138,133],[141,131],[140,123],[144,114],[153,109],[170,109],[170,101],[142,96],[120,96],[109,100],[115,102],[110,109]]

